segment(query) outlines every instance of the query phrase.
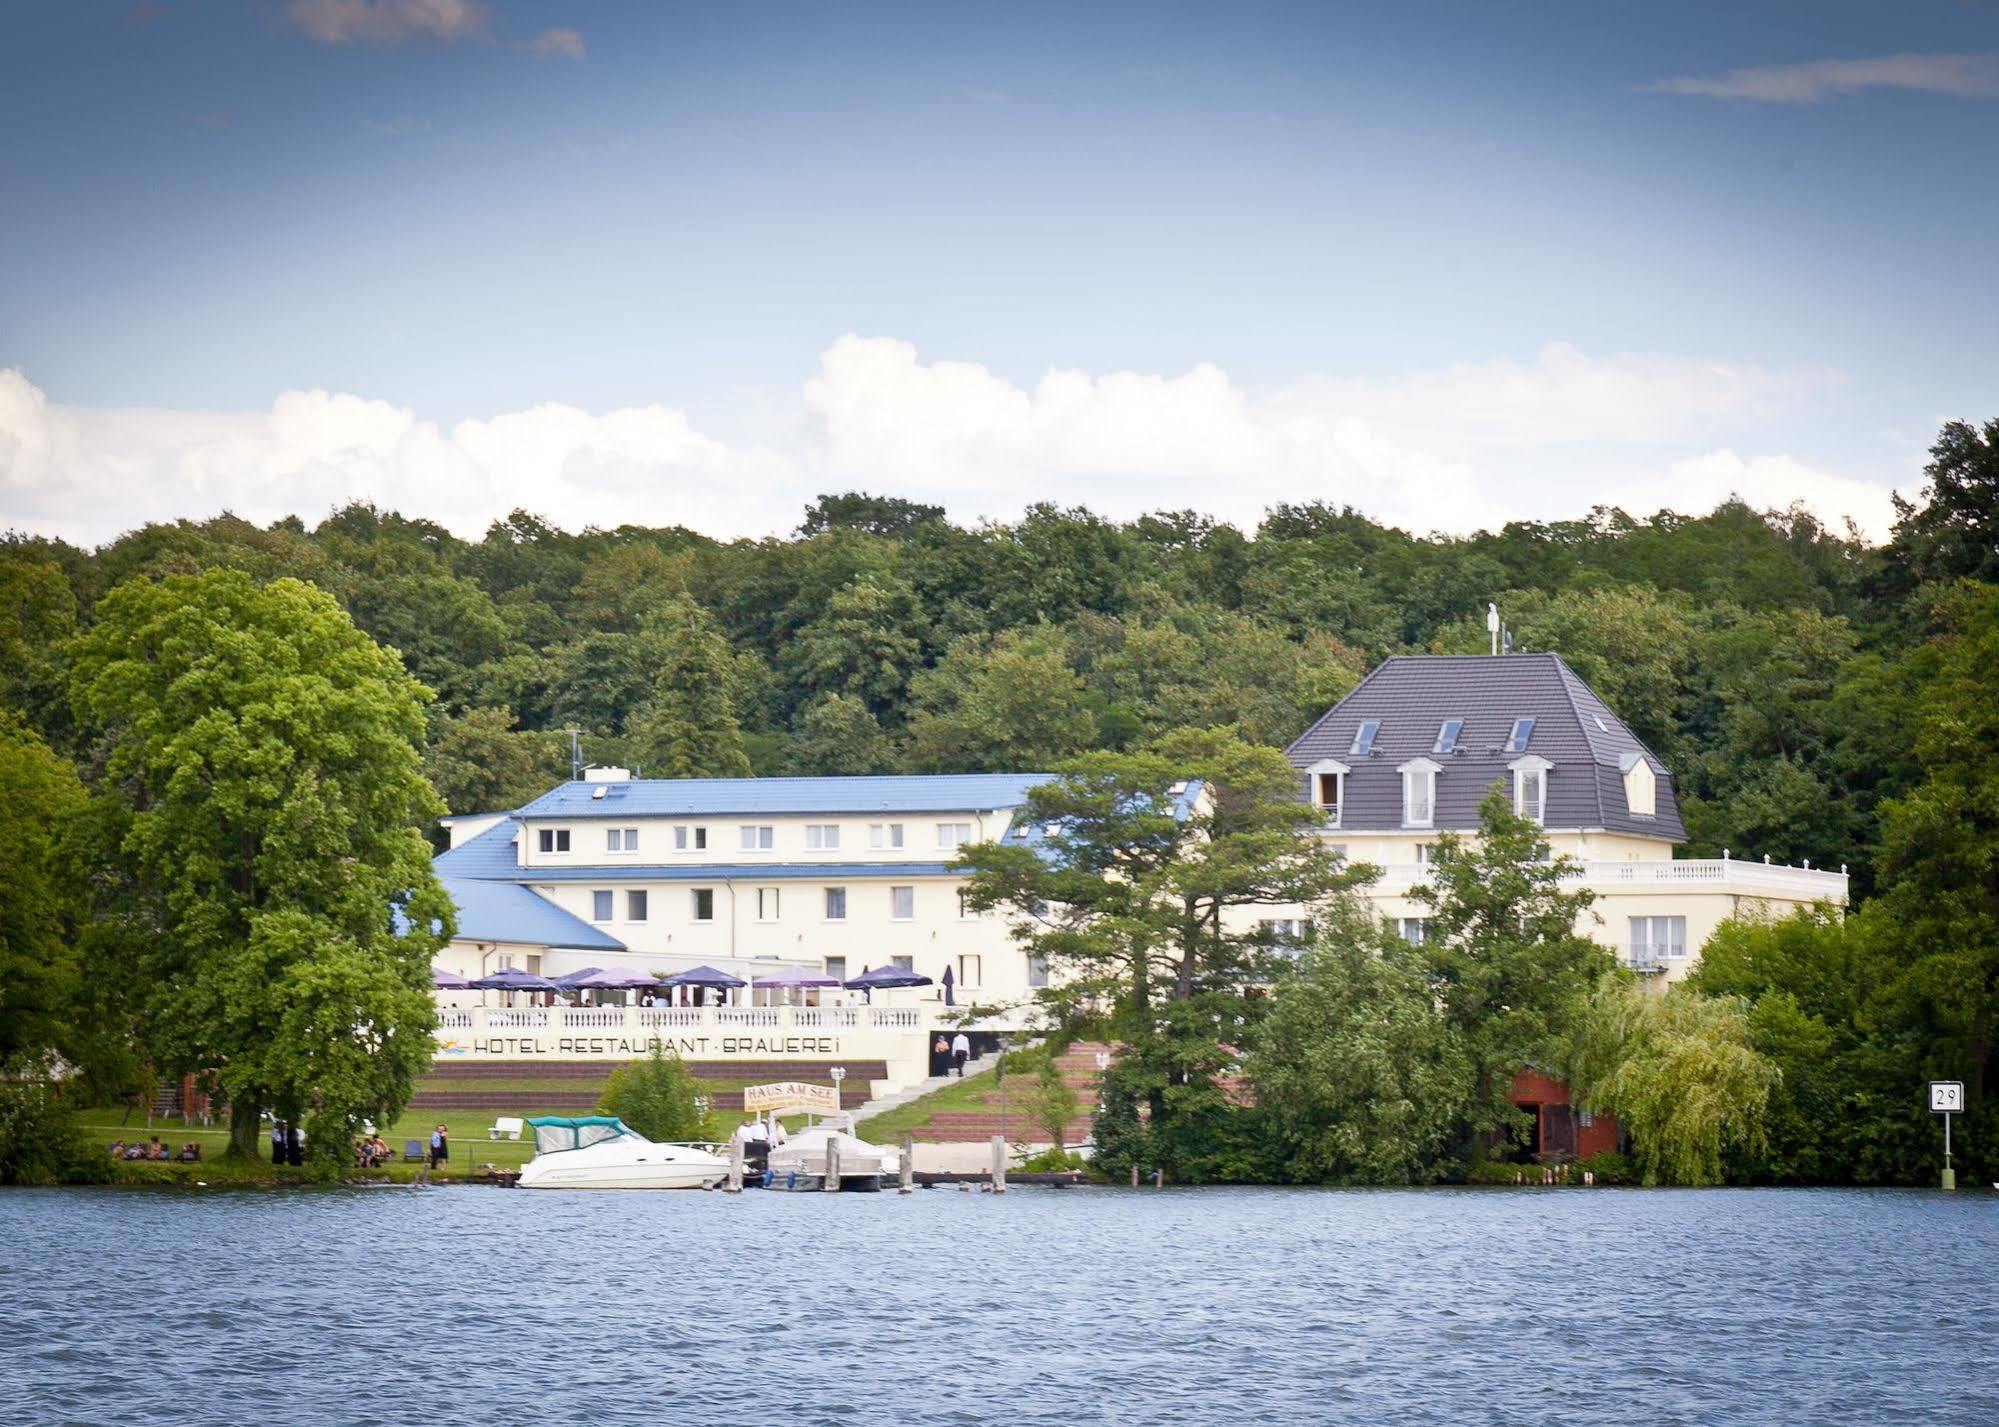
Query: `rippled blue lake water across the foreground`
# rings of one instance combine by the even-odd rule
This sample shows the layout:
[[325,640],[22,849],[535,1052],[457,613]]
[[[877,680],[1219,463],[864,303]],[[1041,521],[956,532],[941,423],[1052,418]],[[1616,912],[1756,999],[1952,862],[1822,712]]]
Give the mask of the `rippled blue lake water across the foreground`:
[[22,1423],[1999,1423],[1989,1191],[0,1193]]

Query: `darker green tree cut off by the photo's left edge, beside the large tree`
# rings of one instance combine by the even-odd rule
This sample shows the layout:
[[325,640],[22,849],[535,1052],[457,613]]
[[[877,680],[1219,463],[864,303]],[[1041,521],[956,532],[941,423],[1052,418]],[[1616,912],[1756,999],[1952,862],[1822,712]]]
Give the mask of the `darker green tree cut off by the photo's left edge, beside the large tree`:
[[78,937],[90,891],[74,855],[84,785],[16,714],[0,710],[0,1067],[74,1049]]

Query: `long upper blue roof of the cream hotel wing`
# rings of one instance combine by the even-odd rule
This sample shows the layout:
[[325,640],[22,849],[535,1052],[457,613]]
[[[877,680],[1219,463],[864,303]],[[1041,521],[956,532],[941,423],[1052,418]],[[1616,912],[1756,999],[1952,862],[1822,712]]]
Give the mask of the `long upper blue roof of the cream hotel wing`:
[[[558,783],[518,817],[720,817],[728,813],[970,813],[1019,807],[1051,773],[902,777],[642,777]],[[598,789],[604,791],[598,797]]]

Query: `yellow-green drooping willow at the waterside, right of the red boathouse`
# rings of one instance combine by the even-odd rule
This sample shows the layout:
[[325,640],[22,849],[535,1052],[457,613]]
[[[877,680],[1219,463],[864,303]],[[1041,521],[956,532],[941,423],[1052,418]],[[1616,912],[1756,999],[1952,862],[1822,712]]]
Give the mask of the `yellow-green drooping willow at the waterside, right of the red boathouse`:
[[1645,1183],[1715,1185],[1731,1153],[1763,1147],[1779,1079],[1749,1033],[1749,1003],[1603,977],[1569,1059],[1577,1103],[1617,1115]]

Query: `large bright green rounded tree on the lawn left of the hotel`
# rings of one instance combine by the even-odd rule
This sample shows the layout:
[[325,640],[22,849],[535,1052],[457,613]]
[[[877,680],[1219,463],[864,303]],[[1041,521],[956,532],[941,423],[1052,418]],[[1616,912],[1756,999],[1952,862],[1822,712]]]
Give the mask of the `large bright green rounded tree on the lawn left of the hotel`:
[[96,739],[102,915],[126,921],[146,1051],[332,1151],[430,1063],[450,901],[420,827],[430,694],[332,596],[238,572],[128,582],[74,650]]

